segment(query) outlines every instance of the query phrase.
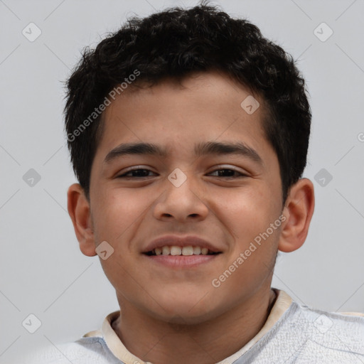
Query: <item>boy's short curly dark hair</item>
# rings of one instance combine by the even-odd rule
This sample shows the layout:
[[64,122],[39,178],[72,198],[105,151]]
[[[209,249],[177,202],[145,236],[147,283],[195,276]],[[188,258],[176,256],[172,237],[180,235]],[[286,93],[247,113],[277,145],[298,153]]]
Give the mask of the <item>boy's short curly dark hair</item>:
[[218,70],[261,95],[268,110],[264,132],[277,153],[285,202],[306,166],[311,109],[304,78],[291,55],[264,38],[257,26],[205,1],[191,9],[129,18],[95,50],[83,50],[66,84],[65,129],[73,169],[87,198],[102,129],[97,105],[136,70],[133,85]]

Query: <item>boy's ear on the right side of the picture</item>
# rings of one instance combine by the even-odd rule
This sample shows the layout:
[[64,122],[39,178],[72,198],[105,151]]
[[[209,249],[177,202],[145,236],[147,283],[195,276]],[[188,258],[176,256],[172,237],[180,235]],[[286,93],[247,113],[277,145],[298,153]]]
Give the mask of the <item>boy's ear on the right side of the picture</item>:
[[308,178],[301,178],[289,191],[284,204],[281,237],[278,250],[293,252],[304,244],[309,232],[315,208],[314,184]]

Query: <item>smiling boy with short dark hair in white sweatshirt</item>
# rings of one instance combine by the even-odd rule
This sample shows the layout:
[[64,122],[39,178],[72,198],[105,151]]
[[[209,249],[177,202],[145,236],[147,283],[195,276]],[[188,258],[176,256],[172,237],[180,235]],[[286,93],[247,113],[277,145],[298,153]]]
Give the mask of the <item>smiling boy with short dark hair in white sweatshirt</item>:
[[310,124],[292,58],[213,6],[133,18],[86,51],[68,211],[120,311],[47,363],[364,363],[360,314],[271,288],[314,213]]

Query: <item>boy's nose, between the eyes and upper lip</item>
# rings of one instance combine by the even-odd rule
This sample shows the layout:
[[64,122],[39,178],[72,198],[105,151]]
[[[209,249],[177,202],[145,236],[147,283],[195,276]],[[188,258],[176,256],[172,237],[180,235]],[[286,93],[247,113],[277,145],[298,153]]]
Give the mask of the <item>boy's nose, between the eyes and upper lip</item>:
[[173,183],[172,178],[166,178],[166,189],[154,205],[154,217],[181,223],[204,220],[209,209],[194,179],[191,175],[186,176],[186,181],[179,185]]

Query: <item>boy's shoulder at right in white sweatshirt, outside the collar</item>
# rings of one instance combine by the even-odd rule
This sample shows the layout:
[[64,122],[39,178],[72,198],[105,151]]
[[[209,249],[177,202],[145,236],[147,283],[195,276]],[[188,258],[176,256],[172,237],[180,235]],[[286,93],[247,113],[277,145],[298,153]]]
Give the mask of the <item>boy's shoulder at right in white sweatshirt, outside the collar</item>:
[[[360,361],[361,360],[361,361]],[[292,301],[274,326],[237,363],[364,363],[364,317]]]

